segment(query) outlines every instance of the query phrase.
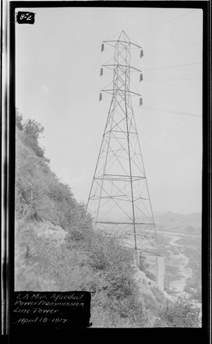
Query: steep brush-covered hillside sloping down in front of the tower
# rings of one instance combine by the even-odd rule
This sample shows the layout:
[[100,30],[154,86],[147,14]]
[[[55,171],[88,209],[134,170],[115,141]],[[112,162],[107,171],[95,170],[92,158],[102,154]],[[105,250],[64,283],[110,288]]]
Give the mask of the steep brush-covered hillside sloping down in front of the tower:
[[43,127],[17,113],[15,290],[92,292],[93,327],[197,327],[198,308],[161,292],[134,250],[96,232],[39,146]]

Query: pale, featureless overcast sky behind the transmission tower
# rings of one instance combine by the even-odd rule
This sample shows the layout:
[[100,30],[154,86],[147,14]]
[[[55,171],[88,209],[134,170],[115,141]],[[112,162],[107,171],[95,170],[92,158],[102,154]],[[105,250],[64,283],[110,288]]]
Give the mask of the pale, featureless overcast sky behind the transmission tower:
[[114,56],[100,46],[125,30],[144,51],[131,61],[144,79],[133,103],[153,213],[201,211],[202,10],[29,10],[34,25],[16,24],[16,105],[45,128],[52,171],[87,203],[110,103],[99,92],[113,78],[100,77]]

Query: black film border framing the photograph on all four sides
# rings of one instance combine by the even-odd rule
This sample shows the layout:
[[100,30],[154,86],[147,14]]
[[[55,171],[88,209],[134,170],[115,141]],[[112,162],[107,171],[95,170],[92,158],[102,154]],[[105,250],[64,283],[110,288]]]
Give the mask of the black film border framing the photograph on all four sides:
[[[2,257],[3,265],[3,299],[10,305],[10,298],[14,292],[14,180],[15,180],[15,12],[17,8],[71,8],[71,7],[124,7],[124,8],[196,8],[203,11],[203,100],[202,100],[202,328],[140,328],[140,329],[107,329],[107,328],[88,328],[81,333],[77,333],[78,338],[68,331],[59,334],[48,334],[45,338],[43,333],[17,334],[10,333],[4,336],[6,341],[11,343],[29,343],[33,339],[39,343],[45,341],[75,342],[75,341],[98,341],[118,340],[124,338],[134,341],[147,341],[154,343],[207,343],[210,337],[210,249],[211,249],[211,193],[210,193],[210,142],[211,142],[211,94],[210,94],[210,23],[211,23],[211,1],[10,1],[9,2],[9,85],[7,99],[1,100],[8,107],[8,141],[5,137],[6,147],[8,147],[7,161],[2,162],[6,179],[3,181],[3,208],[6,218],[6,242],[8,241],[7,257]],[[1,104],[2,105],[2,104]],[[2,109],[2,107],[1,107]],[[5,116],[6,114],[3,114]],[[8,142],[8,144],[7,144]],[[7,190],[9,198],[7,199]],[[9,228],[9,230],[8,230]],[[6,297],[6,295],[8,295]],[[3,314],[5,319],[10,322],[10,307],[8,314]]]

